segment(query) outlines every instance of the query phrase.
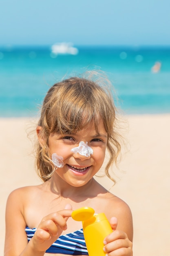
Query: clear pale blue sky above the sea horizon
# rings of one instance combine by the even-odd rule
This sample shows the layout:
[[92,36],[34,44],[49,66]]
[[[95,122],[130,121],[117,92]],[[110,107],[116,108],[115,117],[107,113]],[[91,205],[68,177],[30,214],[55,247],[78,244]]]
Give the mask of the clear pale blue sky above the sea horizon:
[[0,0],[0,46],[170,46],[170,0]]

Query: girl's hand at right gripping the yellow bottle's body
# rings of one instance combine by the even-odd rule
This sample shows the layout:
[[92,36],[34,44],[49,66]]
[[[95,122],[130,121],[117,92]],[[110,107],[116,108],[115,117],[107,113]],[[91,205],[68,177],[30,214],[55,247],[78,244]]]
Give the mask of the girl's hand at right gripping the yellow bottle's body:
[[117,218],[110,220],[113,232],[104,239],[106,256],[132,256],[132,242],[125,232],[117,230]]

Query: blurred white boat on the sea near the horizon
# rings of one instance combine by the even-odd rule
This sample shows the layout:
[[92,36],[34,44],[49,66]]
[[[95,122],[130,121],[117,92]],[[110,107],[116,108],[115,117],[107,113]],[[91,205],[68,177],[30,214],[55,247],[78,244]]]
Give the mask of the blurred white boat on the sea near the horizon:
[[77,55],[78,49],[73,47],[72,43],[55,43],[51,46],[51,52],[53,54],[72,54]]

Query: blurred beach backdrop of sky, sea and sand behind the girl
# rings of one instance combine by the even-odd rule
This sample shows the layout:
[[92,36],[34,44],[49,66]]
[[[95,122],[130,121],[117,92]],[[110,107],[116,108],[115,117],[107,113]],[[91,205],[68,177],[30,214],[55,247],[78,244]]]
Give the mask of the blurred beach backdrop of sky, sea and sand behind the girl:
[[169,13],[169,0],[0,0],[0,255],[9,193],[40,183],[32,119],[51,85],[94,69],[114,85],[131,147],[120,182],[99,182],[132,210],[134,255],[170,255]]

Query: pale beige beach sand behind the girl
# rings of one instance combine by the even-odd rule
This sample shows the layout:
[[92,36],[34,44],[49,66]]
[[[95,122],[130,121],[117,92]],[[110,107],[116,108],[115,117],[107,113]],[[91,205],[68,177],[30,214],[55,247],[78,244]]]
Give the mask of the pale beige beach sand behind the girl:
[[[170,255],[170,114],[130,115],[131,149],[121,160],[121,179],[111,192],[128,203],[134,222],[134,256]],[[26,129],[32,120],[0,119],[0,255],[5,235],[5,205],[18,187],[40,184]],[[110,189],[108,178],[97,178]]]

